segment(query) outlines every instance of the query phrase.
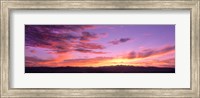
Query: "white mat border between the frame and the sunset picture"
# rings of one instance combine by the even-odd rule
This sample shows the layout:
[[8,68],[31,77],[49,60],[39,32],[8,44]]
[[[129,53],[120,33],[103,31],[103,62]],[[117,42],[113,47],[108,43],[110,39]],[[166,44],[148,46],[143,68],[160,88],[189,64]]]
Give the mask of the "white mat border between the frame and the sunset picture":
[[[189,10],[14,10],[11,88],[190,88]],[[24,24],[175,24],[176,73],[24,74]]]

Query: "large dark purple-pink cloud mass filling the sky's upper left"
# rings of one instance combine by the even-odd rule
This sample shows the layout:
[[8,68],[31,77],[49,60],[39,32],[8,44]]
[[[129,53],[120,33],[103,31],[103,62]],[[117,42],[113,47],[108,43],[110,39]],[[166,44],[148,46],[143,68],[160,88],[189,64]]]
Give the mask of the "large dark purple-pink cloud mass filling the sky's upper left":
[[[79,48],[104,49],[103,45],[90,43],[90,41],[101,38],[105,33],[85,32],[84,30],[88,28],[95,27],[90,25],[25,25],[25,45],[47,48],[50,49],[49,53],[66,53]],[[91,51],[90,53],[100,52]]]

